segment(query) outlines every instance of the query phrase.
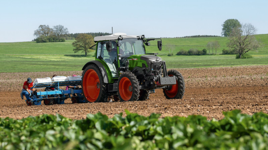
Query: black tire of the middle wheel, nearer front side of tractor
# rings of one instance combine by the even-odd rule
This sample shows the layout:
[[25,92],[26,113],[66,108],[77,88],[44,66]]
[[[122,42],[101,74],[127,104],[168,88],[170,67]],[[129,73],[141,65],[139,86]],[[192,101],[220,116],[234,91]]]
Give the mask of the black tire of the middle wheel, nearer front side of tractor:
[[[130,97],[129,100],[123,99],[122,97],[124,97],[124,96],[122,95],[122,93],[120,93],[120,90],[119,90],[120,88],[122,88],[120,86],[120,82],[122,82],[121,79],[123,79],[124,77],[129,79],[130,82],[131,82],[131,90],[132,90],[131,92],[132,92],[132,94],[131,94],[131,97]],[[119,99],[120,99],[121,102],[138,100],[139,96],[140,96],[139,95],[140,86],[139,86],[139,82],[138,82],[138,79],[136,78],[136,76],[131,72],[123,72],[118,78],[117,92],[118,92],[118,96],[119,96]]]

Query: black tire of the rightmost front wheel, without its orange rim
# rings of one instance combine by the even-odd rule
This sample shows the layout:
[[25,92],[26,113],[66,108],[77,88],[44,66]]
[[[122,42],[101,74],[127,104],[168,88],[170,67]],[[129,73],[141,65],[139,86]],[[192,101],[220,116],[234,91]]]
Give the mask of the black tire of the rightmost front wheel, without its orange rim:
[[163,89],[163,92],[164,92],[166,99],[182,99],[184,92],[185,92],[185,83],[184,83],[183,76],[177,70],[170,70],[167,72],[167,74],[172,75],[172,76],[176,76],[178,78],[177,79],[178,89],[177,89],[177,93],[175,93],[174,95],[169,94],[168,90]]

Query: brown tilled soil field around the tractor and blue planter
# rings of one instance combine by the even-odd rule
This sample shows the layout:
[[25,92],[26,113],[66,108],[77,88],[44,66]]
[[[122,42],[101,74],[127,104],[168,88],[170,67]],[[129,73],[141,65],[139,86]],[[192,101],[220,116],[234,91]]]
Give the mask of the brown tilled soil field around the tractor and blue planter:
[[[147,101],[85,103],[64,105],[27,106],[20,98],[22,84],[27,77],[32,79],[52,76],[70,76],[81,71],[0,73],[0,117],[21,119],[29,115],[61,114],[72,119],[83,119],[88,113],[98,111],[113,117],[125,109],[148,116],[151,113],[166,116],[200,114],[208,119],[222,119],[222,111],[240,109],[242,113],[268,113],[268,66],[243,66],[224,68],[179,69],[186,82],[182,100],[167,100],[163,90],[156,90]],[[123,113],[125,115],[125,113]]]

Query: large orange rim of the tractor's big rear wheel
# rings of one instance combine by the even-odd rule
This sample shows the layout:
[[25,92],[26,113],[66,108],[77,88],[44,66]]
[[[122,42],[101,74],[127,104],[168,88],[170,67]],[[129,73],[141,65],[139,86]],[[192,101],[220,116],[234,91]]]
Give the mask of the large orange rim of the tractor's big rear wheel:
[[83,77],[83,92],[89,102],[95,102],[99,97],[99,76],[93,69],[89,69]]

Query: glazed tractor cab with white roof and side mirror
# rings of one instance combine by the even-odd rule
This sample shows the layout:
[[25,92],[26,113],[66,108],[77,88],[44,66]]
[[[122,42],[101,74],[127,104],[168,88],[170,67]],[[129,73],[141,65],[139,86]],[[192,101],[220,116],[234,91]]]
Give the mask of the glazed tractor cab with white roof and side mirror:
[[[126,33],[114,33],[110,36],[97,36],[94,38],[94,41],[97,43],[96,60],[106,64],[107,69],[110,71],[113,78],[119,77],[119,72],[127,67],[128,60],[138,60],[139,62],[139,58],[142,55],[147,55],[144,45],[150,45],[150,43],[147,43],[144,39],[144,35],[127,36]],[[161,50],[161,46],[159,50]],[[151,56],[151,59],[154,60],[157,60],[158,58],[159,57],[154,55]],[[144,65],[148,67],[147,63],[144,63],[144,65],[140,63],[140,65],[141,67]]]

